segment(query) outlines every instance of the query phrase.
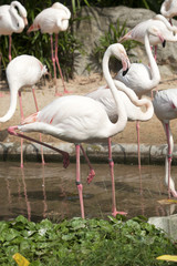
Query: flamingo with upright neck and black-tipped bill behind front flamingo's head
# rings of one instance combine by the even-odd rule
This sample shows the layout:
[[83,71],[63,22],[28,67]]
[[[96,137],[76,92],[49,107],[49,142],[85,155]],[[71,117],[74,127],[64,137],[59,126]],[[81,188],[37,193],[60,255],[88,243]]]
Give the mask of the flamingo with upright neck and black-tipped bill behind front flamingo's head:
[[[123,71],[118,71],[115,79],[122,81],[125,85],[135,91],[138,98],[150,92],[160,81],[160,73],[155,58],[150,49],[150,38],[157,38],[162,43],[165,41],[164,31],[156,25],[146,29],[144,35],[145,50],[149,65],[143,63],[132,63],[126,75]],[[139,152],[139,122],[136,123],[137,144],[138,144],[138,166],[140,170],[140,152]]]

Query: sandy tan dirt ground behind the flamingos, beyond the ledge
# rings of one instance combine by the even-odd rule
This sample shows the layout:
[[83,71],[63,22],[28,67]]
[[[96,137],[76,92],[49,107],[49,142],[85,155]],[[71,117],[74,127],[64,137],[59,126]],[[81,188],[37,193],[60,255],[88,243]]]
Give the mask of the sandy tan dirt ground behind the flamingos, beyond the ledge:
[[[97,89],[100,85],[105,84],[105,80],[101,78],[98,74],[92,74],[91,76],[76,76],[74,80],[70,80],[65,83],[67,91],[71,94],[85,94]],[[58,80],[59,91],[63,94],[63,85],[61,79]],[[159,83],[157,90],[169,89],[177,86],[177,75],[168,76]],[[9,109],[10,104],[10,93],[9,88],[6,81],[1,81],[0,83],[0,93],[2,96],[0,98],[0,116],[2,116]],[[55,99],[55,88],[53,81],[48,81],[42,79],[41,82],[35,88],[37,100],[39,104],[39,109],[42,109],[52,100]],[[35,106],[33,102],[32,91],[30,88],[22,89],[22,104],[24,117],[35,112]],[[1,123],[1,132],[0,132],[0,141],[3,143],[7,142],[17,142],[17,137],[8,134],[7,129],[10,125],[20,124],[20,110],[19,102],[17,104],[15,114],[13,117],[6,122]],[[176,120],[171,121],[171,131],[174,133],[174,141],[177,142],[176,134]],[[46,142],[60,142],[52,136],[44,135],[43,140]],[[128,122],[125,130],[114,136],[113,142],[115,143],[136,143],[136,123]],[[162,126],[162,123],[157,120],[157,117],[153,116],[152,120],[147,122],[140,122],[140,143],[144,144],[163,144],[166,143],[166,136]]]

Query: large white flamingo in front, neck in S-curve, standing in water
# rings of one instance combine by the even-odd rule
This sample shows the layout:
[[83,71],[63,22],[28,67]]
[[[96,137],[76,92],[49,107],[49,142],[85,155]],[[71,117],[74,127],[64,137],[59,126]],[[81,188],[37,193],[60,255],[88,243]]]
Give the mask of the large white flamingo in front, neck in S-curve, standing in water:
[[[62,141],[75,143],[76,186],[79,190],[81,215],[83,218],[84,204],[83,186],[80,177],[80,143],[102,142],[123,131],[127,123],[125,106],[119,99],[119,94],[117,95],[117,89],[115,88],[108,71],[111,55],[122,60],[124,70],[127,70],[129,61],[126,51],[121,43],[110,45],[103,58],[103,73],[111,88],[114,101],[116,102],[116,110],[118,113],[118,120],[116,123],[110,121],[102,103],[84,95],[67,95],[55,99],[41,111],[30,115],[23,121],[22,125],[10,126],[8,129],[10,134],[17,136],[21,136],[21,134],[15,130],[20,130],[21,132],[43,132],[44,134],[53,135]],[[121,82],[119,85],[122,85]],[[119,89],[125,91],[131,99],[134,96],[133,100],[136,104],[144,104],[143,100],[138,100],[136,94],[124,84],[123,88],[119,86]],[[114,187],[112,187],[112,213],[115,216],[117,214],[115,191]]]

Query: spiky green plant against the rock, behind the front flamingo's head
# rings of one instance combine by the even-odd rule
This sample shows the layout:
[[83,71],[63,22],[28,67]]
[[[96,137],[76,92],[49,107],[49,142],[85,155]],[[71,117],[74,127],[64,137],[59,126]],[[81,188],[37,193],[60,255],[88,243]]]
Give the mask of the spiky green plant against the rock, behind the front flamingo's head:
[[[105,32],[103,35],[101,35],[98,43],[95,44],[95,48],[93,50],[93,62],[95,65],[100,65],[100,71],[102,70],[102,59],[104,55],[105,50],[112,44],[118,42],[121,37],[125,35],[127,33],[126,28],[126,21],[121,25],[119,20],[117,20],[116,24],[110,23],[108,31]],[[131,57],[129,51],[131,49],[134,49],[138,44],[137,41],[127,40],[124,42],[124,48],[127,52],[127,54]],[[117,63],[116,59],[113,59],[111,69],[114,69],[115,63]],[[93,65],[93,68],[95,68]],[[117,68],[116,68],[117,69]]]

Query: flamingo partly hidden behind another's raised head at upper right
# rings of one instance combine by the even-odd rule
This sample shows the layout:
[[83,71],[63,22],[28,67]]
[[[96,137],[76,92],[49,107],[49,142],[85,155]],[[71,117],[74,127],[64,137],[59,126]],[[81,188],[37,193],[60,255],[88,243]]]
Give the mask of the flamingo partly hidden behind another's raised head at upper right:
[[[129,32],[119,39],[119,42],[124,42],[126,40],[136,40],[145,44],[145,34],[150,25],[156,25],[160,32],[163,32],[164,40],[170,42],[177,41],[177,28],[175,25],[171,25],[164,16],[156,14],[153,19],[145,20],[135,25]],[[155,45],[156,60],[157,44],[162,43],[162,40],[157,35],[149,35],[149,42],[150,45]],[[163,47],[165,47],[165,42],[163,42]]]

